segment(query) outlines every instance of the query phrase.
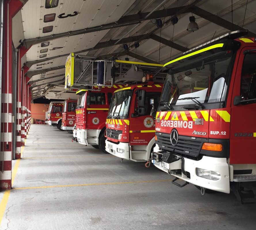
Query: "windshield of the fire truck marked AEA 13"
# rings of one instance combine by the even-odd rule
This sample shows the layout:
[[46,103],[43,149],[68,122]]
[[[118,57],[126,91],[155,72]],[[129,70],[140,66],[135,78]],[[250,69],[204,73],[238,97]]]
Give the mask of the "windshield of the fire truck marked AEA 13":
[[124,118],[128,116],[132,90],[115,92],[109,107],[109,117]]

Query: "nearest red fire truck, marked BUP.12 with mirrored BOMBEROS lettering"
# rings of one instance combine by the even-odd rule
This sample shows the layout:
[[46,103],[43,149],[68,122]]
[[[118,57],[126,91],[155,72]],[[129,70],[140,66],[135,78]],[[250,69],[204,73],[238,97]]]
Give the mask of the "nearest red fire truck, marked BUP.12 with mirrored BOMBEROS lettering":
[[151,154],[175,185],[192,183],[202,194],[231,188],[244,204],[256,201],[256,39],[245,34],[230,32],[164,65]]

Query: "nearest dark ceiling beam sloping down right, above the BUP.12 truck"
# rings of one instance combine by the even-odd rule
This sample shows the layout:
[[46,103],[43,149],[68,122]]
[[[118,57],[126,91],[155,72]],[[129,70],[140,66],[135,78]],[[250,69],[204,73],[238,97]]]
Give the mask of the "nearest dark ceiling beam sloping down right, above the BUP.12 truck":
[[[226,28],[230,31],[232,31],[232,30],[242,30],[243,29],[242,27],[237,26],[236,24],[234,24],[232,22],[229,22],[229,21],[227,21],[223,18],[220,18],[219,16],[216,16],[216,15],[214,15],[214,14],[212,14],[212,13],[210,13],[210,12],[204,10],[204,9],[201,9],[197,6],[192,6],[190,9],[191,9],[191,13],[194,13],[197,16],[202,17],[202,18],[204,18],[204,19],[206,19],[206,20],[208,20],[208,21],[210,21],[210,22],[212,22],[212,23],[214,23],[218,26]],[[247,36],[255,37],[256,34],[249,31]]]

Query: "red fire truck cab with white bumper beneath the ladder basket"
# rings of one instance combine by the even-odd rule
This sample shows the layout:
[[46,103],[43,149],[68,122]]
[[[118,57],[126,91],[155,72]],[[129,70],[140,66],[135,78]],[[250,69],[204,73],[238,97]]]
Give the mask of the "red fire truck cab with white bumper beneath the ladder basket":
[[94,148],[105,150],[106,117],[113,92],[124,85],[93,86],[92,89],[81,89],[77,102],[75,128],[73,140],[80,144],[91,145]]

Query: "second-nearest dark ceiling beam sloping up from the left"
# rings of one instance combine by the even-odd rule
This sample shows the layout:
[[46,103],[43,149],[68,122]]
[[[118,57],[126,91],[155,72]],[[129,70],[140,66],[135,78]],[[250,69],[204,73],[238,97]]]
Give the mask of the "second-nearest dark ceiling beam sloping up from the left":
[[[124,43],[128,43],[128,42],[136,42],[137,40],[141,39],[142,37],[145,37],[145,39],[149,38],[149,36],[147,36],[147,34],[143,34],[143,35],[138,35],[138,36],[131,36],[131,37],[128,37],[128,38],[123,38],[116,44],[115,44],[115,42],[117,42],[119,39],[109,40],[109,41],[105,41],[105,42],[98,42],[98,44],[95,45],[93,48],[84,49],[84,50],[77,51],[77,52],[74,52],[74,53],[79,54],[79,53],[84,53],[84,52],[87,52],[87,51],[92,51],[92,50],[96,50],[96,49],[102,49],[102,48],[110,47],[110,46],[113,46],[113,45],[119,45],[119,44],[124,44]],[[38,64],[38,63],[41,63],[41,62],[44,62],[44,61],[49,61],[49,60],[52,60],[52,59],[55,59],[55,58],[58,58],[58,57],[67,57],[68,55],[69,55],[69,53],[63,54],[63,55],[58,55],[58,56],[55,56],[55,57],[48,57],[48,58],[45,58],[45,59],[35,60],[35,61],[27,61],[25,63],[25,65],[30,68],[34,64]]]

